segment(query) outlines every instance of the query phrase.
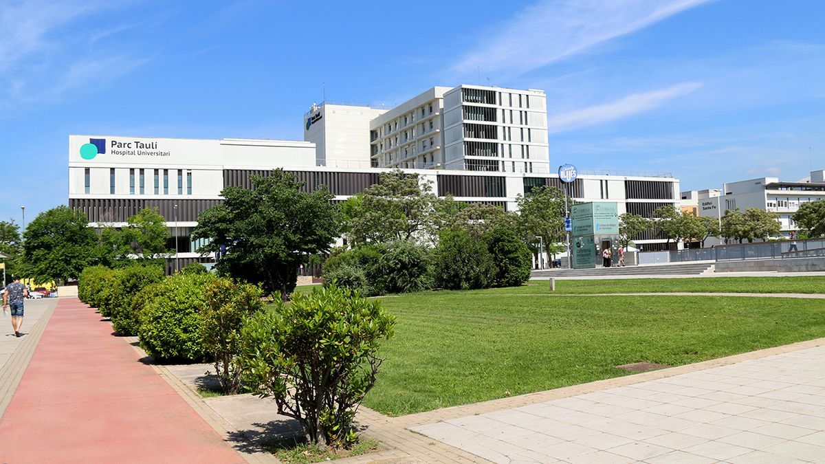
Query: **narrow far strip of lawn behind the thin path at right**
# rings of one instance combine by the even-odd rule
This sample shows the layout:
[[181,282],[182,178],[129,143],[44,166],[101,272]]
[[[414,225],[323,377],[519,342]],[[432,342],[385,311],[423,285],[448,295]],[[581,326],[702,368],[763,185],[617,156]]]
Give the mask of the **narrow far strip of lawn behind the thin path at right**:
[[[500,289],[502,293],[550,293],[548,281]],[[825,293],[825,276],[695,277],[679,279],[557,280],[556,293]]]

